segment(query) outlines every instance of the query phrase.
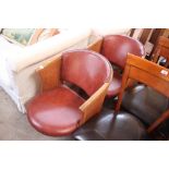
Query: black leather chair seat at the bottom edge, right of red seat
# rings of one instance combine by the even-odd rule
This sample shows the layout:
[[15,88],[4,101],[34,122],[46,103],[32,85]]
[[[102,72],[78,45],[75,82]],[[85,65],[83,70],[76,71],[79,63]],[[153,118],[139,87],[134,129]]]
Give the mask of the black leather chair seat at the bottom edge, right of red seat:
[[144,125],[130,113],[105,109],[73,133],[80,141],[137,141],[146,140]]

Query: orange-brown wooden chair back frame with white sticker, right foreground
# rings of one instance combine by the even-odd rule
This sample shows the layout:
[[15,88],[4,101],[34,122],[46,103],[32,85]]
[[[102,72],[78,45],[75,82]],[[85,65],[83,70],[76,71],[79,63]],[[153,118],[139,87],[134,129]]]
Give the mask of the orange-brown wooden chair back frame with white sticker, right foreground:
[[[135,57],[131,53],[128,55],[126,64],[122,79],[122,86],[118,96],[118,104],[116,112],[120,110],[122,96],[126,87],[128,81],[136,80],[144,83],[157,92],[169,97],[169,70],[164,67],[157,65],[154,62]],[[169,118],[169,110],[164,112],[149,128],[148,132],[154,131],[161,122]]]

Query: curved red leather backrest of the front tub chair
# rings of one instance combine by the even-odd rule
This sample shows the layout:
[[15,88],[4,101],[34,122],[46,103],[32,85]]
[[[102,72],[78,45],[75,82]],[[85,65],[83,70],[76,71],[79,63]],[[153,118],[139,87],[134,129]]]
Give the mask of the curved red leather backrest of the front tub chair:
[[101,55],[89,50],[71,50],[62,55],[61,79],[94,94],[111,77],[111,65]]

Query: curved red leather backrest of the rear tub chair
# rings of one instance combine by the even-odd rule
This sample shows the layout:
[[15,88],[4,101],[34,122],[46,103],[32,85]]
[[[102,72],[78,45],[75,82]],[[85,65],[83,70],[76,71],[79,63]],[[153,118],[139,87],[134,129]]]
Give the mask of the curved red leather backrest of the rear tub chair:
[[124,69],[128,52],[142,57],[145,55],[144,46],[129,36],[108,35],[104,37],[100,53],[110,62]]

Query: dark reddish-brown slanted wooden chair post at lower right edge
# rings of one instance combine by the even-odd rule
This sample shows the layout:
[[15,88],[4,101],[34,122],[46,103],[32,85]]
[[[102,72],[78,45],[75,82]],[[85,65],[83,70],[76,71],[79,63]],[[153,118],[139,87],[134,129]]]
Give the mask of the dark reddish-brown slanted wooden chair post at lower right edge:
[[169,110],[165,111],[160,118],[158,118],[148,129],[147,132],[153,132],[160,123],[169,118]]

